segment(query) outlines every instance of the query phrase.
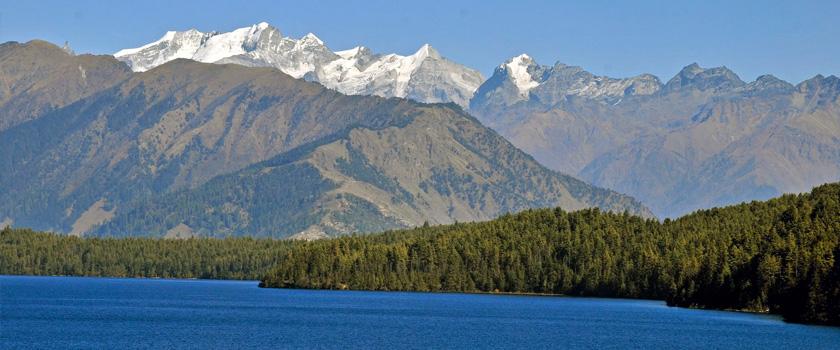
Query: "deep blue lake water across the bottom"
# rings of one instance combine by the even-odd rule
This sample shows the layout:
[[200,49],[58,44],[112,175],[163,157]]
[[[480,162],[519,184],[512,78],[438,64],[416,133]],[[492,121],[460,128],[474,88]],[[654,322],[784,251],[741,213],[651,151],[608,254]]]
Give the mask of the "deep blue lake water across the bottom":
[[840,349],[840,328],[656,301],[0,276],[0,347]]

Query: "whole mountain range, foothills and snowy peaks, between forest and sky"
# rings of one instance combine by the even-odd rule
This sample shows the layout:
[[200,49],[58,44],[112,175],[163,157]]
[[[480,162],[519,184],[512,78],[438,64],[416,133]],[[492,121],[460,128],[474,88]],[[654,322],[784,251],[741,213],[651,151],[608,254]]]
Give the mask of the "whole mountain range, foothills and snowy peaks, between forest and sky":
[[838,116],[835,76],[695,63],[663,83],[523,54],[484,80],[429,45],[334,52],[267,23],[114,56],[9,42],[0,224],[318,238],[545,206],[675,217],[840,180]]

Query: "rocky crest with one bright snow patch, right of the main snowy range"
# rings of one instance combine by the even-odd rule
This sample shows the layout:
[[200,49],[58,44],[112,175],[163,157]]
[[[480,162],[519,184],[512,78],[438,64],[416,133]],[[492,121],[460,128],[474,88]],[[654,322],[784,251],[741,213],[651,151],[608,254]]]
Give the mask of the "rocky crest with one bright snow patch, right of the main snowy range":
[[625,96],[652,95],[662,88],[659,79],[650,74],[616,79],[559,62],[553,67],[539,65],[522,54],[499,65],[479,87],[471,105],[509,106],[530,99],[553,105],[570,96],[615,103]]

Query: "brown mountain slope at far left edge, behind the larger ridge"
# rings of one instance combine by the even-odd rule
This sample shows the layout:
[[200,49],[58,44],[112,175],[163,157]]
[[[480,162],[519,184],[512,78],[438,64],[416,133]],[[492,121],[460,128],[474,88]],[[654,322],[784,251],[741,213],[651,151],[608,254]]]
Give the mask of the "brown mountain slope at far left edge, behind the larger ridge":
[[110,56],[74,56],[50,43],[0,45],[0,131],[107,89],[131,71]]

